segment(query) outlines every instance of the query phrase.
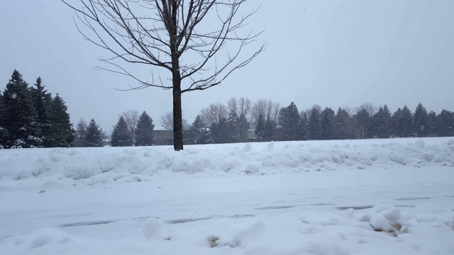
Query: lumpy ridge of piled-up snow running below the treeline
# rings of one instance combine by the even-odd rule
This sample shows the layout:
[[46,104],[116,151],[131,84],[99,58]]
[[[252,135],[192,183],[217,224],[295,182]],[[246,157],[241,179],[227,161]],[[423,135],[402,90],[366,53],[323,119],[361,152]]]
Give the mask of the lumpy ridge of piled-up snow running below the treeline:
[[5,149],[0,186],[146,181],[155,174],[264,175],[369,167],[454,166],[453,137],[172,147]]

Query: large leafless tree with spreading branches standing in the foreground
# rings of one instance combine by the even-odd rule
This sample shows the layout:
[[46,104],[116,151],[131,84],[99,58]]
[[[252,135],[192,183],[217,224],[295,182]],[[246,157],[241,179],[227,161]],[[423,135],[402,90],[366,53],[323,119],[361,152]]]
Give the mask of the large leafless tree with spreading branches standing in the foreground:
[[[62,1],[85,26],[76,23],[84,38],[111,54],[99,59],[107,64],[100,69],[135,79],[138,86],[131,89],[172,89],[175,150],[183,149],[182,93],[221,84],[266,46],[252,43],[262,31],[242,33],[257,11],[240,15],[246,0],[80,0],[79,6]],[[255,50],[243,55],[250,46]],[[128,64],[167,72],[156,81],[153,72],[151,80],[142,79]]]

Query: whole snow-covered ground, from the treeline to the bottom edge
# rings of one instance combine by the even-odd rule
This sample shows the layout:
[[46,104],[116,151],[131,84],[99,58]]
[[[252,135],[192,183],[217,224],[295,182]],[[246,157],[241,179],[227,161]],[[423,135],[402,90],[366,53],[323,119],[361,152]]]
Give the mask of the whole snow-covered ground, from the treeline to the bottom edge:
[[454,137],[0,150],[0,254],[454,254]]

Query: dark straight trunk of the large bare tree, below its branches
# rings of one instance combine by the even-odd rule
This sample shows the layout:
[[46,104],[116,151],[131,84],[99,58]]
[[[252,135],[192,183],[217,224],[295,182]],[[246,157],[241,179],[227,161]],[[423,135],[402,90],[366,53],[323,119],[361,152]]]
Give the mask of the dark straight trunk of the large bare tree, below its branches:
[[182,123],[182,89],[181,80],[173,81],[173,148],[176,151],[183,149]]

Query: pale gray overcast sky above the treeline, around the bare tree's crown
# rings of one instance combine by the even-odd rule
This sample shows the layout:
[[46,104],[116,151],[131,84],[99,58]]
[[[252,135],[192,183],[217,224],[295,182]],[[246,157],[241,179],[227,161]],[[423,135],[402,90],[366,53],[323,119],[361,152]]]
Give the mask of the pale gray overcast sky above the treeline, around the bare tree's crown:
[[[454,1],[253,0],[244,13],[260,3],[248,29],[266,28],[267,50],[221,86],[183,94],[189,123],[232,96],[293,101],[300,111],[366,102],[392,112],[404,105],[414,111],[419,102],[428,111],[454,111]],[[60,1],[1,1],[1,91],[18,69],[29,84],[40,76],[65,99],[74,126],[94,118],[109,131],[130,109],[147,111],[158,125],[172,110],[172,92],[114,90],[135,82],[93,69],[106,54],[82,39],[73,16]]]

